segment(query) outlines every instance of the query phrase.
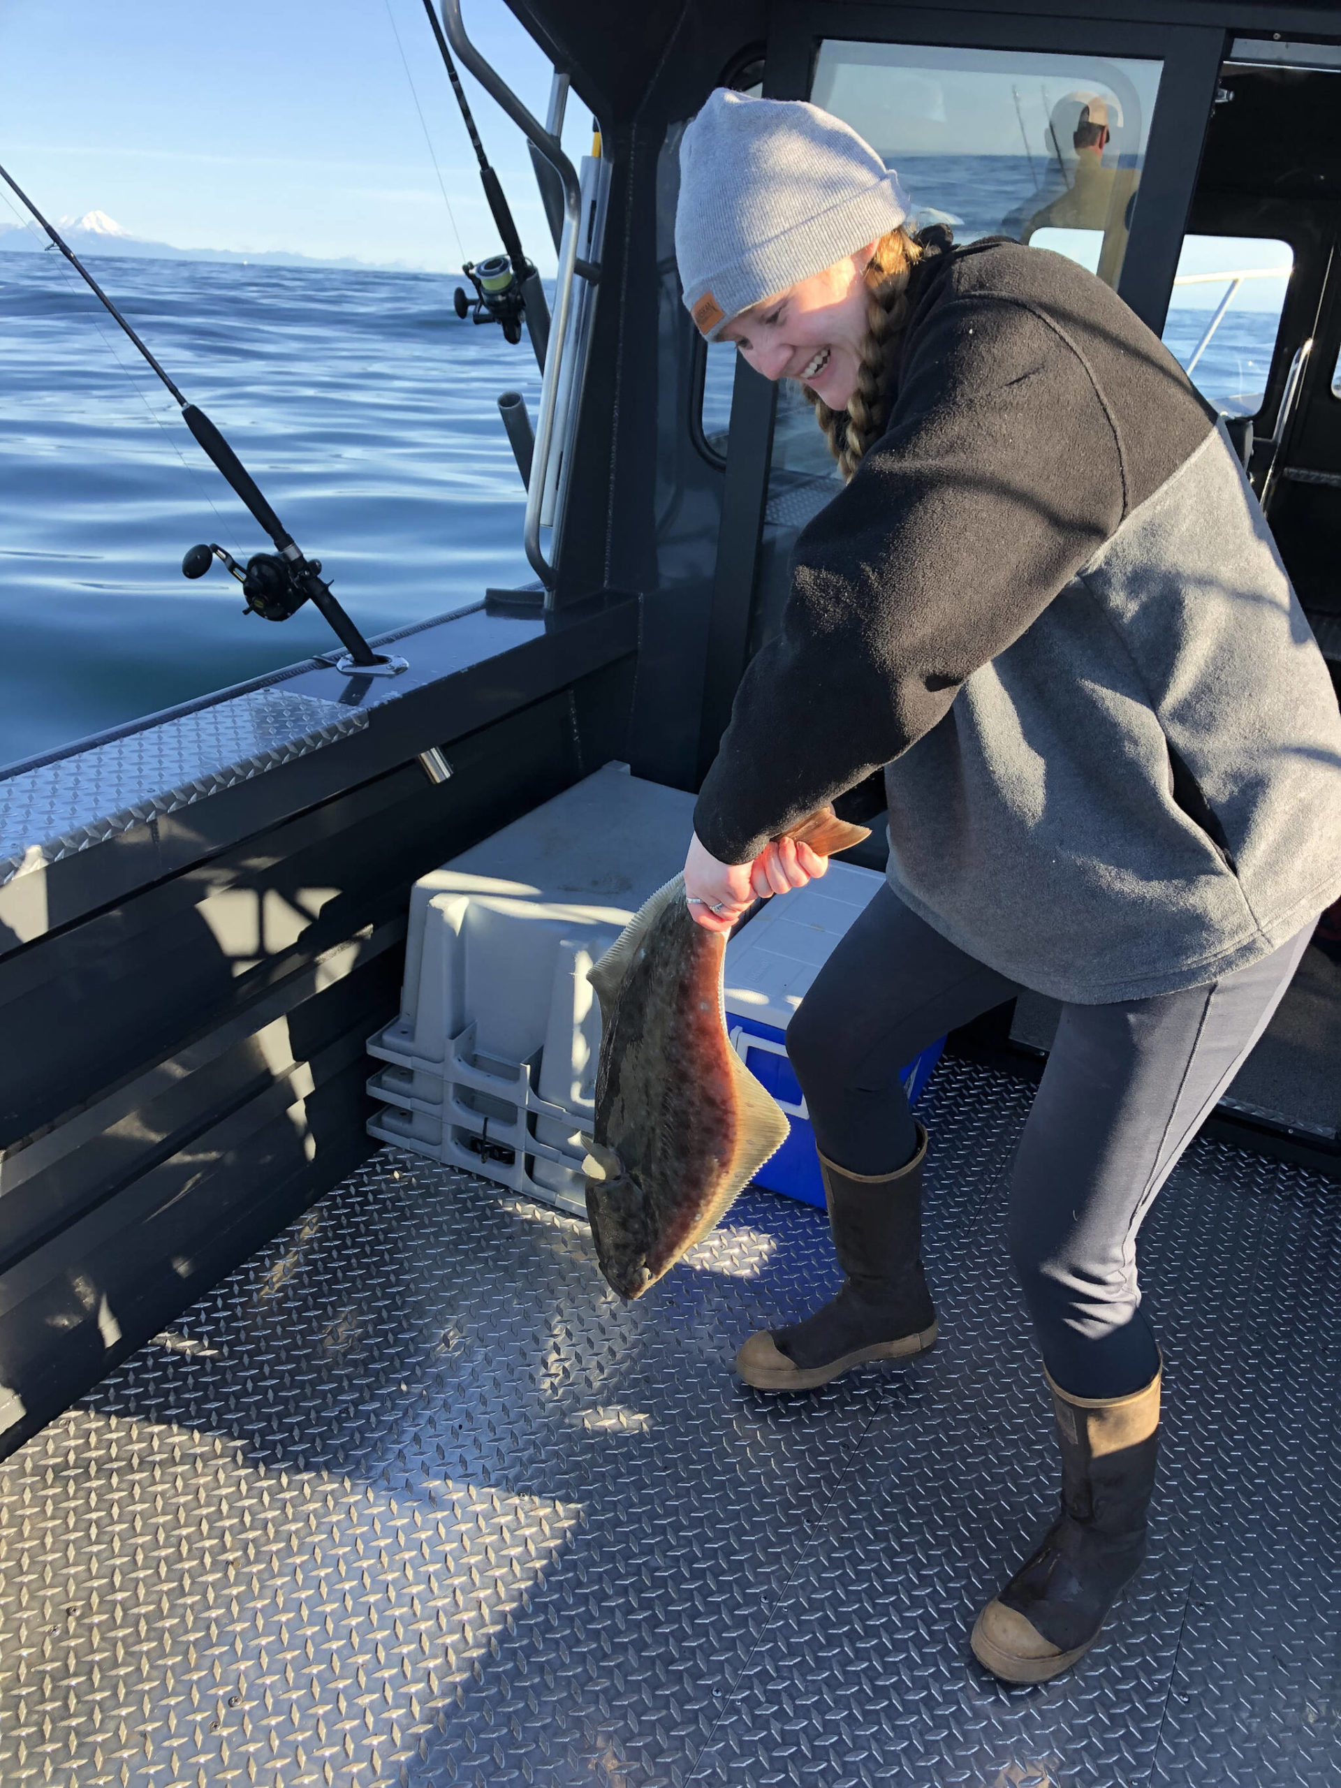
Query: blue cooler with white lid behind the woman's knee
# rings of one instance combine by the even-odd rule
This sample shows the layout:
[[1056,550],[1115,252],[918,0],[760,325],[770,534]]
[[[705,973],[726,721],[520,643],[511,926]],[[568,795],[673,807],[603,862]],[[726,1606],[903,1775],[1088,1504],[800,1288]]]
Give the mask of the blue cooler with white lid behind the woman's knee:
[[[815,1135],[801,1087],[787,1060],[787,1025],[830,951],[876,894],[883,876],[853,864],[830,864],[822,880],[765,903],[726,946],[726,1030],[731,1048],[774,1096],[792,1134],[755,1175],[756,1185],[824,1209]],[[903,1091],[915,1103],[946,1039],[903,1069]]]

